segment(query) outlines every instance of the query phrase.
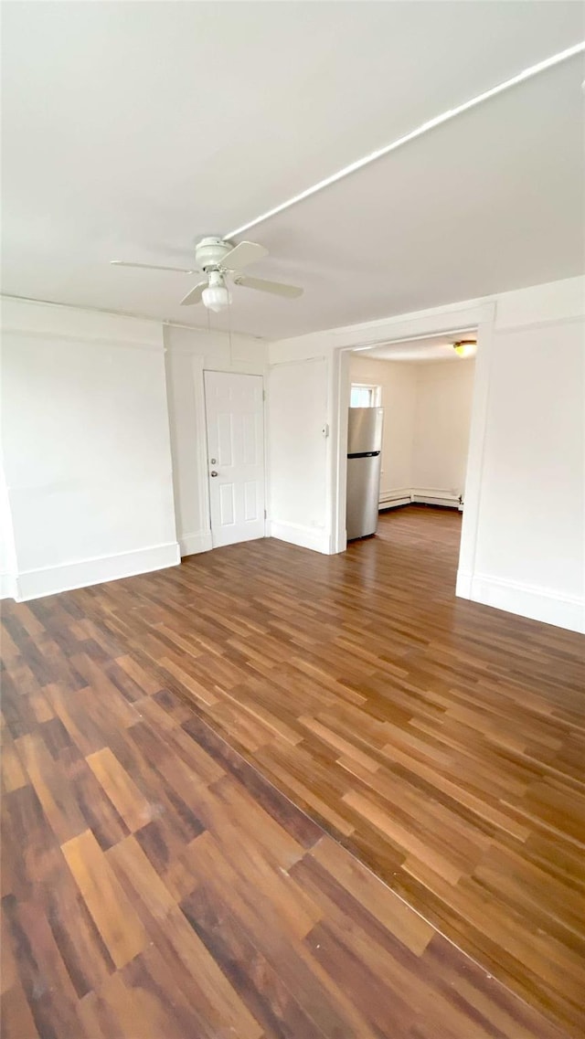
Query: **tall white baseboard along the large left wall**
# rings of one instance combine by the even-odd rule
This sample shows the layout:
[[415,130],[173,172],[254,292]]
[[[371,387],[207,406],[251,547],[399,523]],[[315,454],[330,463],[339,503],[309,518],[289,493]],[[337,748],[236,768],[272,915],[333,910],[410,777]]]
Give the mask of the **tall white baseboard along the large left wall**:
[[180,562],[179,544],[177,541],[170,541],[167,544],[135,549],[113,556],[100,556],[59,566],[24,570],[17,576],[15,597],[18,603],[24,603],[30,598],[43,598],[44,595],[55,595],[74,588],[103,584],[105,581],[118,581],[138,574],[162,570],[167,566],[177,566]]

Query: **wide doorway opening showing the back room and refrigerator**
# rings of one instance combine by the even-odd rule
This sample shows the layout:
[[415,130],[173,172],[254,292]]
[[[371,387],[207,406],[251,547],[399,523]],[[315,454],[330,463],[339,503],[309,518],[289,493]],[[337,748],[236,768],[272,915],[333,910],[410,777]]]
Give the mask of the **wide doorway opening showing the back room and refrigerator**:
[[476,351],[477,328],[348,351],[346,530],[352,551],[372,536],[416,543],[429,562],[445,557],[454,584]]

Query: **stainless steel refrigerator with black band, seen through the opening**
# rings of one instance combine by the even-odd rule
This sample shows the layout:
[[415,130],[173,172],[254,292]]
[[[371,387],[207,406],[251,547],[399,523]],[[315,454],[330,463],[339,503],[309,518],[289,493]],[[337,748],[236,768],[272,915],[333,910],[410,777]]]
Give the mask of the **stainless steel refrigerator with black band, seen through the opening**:
[[347,428],[347,538],[375,534],[382,447],[381,407],[350,407]]

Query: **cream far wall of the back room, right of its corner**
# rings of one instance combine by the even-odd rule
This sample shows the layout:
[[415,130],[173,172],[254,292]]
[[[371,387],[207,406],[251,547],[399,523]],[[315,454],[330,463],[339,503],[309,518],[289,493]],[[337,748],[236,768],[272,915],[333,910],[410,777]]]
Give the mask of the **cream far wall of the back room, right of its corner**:
[[414,495],[445,501],[464,497],[475,362],[416,367]]

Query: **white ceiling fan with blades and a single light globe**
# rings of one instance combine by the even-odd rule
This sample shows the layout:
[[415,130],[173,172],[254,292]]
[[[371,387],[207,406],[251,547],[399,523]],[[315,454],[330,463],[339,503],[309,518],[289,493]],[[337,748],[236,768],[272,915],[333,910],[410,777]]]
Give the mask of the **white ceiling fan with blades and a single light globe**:
[[274,296],[285,296],[296,299],[302,295],[302,289],[295,285],[283,285],[281,282],[267,282],[263,277],[249,277],[241,271],[250,263],[268,256],[268,249],[256,242],[239,242],[233,245],[223,238],[202,238],[195,245],[195,265],[193,267],[164,267],[150,263],[130,263],[126,260],[110,260],[115,267],[145,267],[149,270],[172,270],[179,274],[205,274],[193,289],[181,300],[182,307],[192,307],[203,302],[211,311],[220,311],[228,307],[232,297],[227,285],[231,277],[234,285],[244,289],[256,289],[258,292],[269,292]]

